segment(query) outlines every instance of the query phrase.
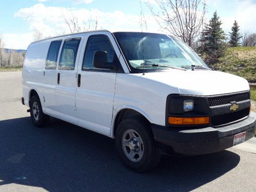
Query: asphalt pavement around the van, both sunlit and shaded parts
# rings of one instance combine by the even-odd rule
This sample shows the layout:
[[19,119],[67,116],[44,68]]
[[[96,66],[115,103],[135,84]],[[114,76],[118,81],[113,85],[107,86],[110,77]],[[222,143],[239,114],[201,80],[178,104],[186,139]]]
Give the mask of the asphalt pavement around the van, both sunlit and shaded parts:
[[33,126],[22,73],[0,72],[0,191],[256,191],[255,138],[194,157],[164,156],[150,173],[126,169],[113,139],[58,119]]

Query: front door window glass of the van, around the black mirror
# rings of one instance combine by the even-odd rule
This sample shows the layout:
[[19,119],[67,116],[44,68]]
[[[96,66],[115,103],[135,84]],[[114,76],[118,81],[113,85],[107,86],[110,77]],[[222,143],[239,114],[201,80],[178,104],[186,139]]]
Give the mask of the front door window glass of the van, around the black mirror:
[[93,67],[93,56],[96,51],[105,51],[108,55],[108,63],[112,63],[115,58],[115,50],[113,49],[109,38],[105,35],[92,35],[88,38],[86,51],[83,57],[83,70],[106,70]]

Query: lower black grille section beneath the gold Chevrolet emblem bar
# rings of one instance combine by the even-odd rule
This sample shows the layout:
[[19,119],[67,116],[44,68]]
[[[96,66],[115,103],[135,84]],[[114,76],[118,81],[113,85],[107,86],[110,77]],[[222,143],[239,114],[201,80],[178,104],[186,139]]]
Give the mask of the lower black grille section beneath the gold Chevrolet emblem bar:
[[250,109],[248,108],[248,109],[244,109],[244,110],[233,112],[233,113],[215,115],[211,117],[211,124],[214,126],[227,124],[227,123],[242,119],[248,116],[249,113],[250,113]]

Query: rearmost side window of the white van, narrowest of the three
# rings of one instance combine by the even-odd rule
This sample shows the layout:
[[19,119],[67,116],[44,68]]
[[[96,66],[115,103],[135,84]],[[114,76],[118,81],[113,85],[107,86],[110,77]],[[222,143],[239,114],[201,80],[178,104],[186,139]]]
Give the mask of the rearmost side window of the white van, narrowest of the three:
[[55,40],[51,42],[46,59],[46,69],[56,69],[61,41],[62,40]]

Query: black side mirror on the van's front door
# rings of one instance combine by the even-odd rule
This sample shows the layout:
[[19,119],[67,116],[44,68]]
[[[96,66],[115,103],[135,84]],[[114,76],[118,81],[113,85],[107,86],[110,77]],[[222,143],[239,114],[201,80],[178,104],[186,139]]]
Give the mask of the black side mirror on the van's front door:
[[93,66],[100,69],[113,69],[112,63],[108,63],[108,54],[105,51],[95,51]]

